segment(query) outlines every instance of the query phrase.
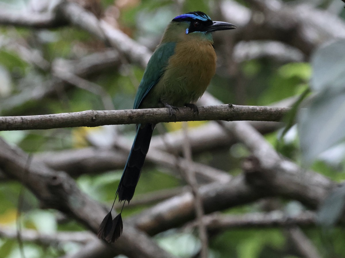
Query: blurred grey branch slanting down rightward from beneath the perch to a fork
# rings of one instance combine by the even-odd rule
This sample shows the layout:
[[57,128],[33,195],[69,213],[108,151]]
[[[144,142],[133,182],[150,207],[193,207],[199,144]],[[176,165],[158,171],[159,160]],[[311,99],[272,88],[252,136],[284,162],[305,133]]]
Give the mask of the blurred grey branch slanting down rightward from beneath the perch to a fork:
[[[219,104],[220,101],[215,98],[204,98],[204,102],[207,104]],[[246,121],[217,121],[223,129],[228,132],[232,137],[235,137],[237,141],[245,144],[245,146],[252,152],[253,156],[244,162],[243,169],[246,172],[247,181],[250,184],[262,187],[263,180],[265,181],[265,187],[267,185],[272,185],[270,187],[275,187],[275,184],[280,184],[282,179],[282,173],[287,181],[294,180],[296,174],[299,176],[299,180],[296,180],[291,185],[285,185],[284,183],[280,185],[280,193],[286,191],[286,193],[292,194],[290,198],[305,197],[310,200],[309,193],[314,192],[311,188],[314,184],[319,184],[320,182],[325,182],[323,176],[314,173],[312,171],[307,171],[300,168],[297,164],[281,157],[274,148],[265,140],[265,138],[248,122]],[[260,171],[260,173],[257,173]],[[261,172],[264,172],[263,174]],[[315,174],[315,175],[314,175]],[[256,176],[258,175],[258,178]],[[280,176],[277,176],[280,175]],[[263,176],[263,177],[262,177]],[[292,178],[290,178],[292,177]],[[308,184],[304,184],[304,180],[310,180]],[[320,180],[320,181],[319,181]],[[309,203],[309,206],[316,207],[316,205],[325,198],[326,193],[334,187],[334,183],[327,183],[327,186],[321,192],[314,192],[313,199],[314,203]],[[291,191],[293,189],[293,191]],[[271,188],[271,190],[274,190]],[[320,189],[321,190],[321,189]],[[298,197],[298,198],[299,198]],[[298,199],[297,199],[298,200]],[[317,201],[316,201],[317,200]],[[303,202],[302,200],[299,200]]]

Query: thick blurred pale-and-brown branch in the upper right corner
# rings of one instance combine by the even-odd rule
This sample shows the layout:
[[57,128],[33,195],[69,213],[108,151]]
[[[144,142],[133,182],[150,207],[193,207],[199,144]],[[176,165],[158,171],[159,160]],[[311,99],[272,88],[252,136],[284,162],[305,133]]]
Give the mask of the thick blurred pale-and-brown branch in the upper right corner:
[[[242,40],[270,39],[295,46],[310,55],[316,46],[345,37],[345,23],[336,15],[311,4],[280,0],[248,0],[251,20],[242,28]],[[328,26],[329,23],[332,26]]]

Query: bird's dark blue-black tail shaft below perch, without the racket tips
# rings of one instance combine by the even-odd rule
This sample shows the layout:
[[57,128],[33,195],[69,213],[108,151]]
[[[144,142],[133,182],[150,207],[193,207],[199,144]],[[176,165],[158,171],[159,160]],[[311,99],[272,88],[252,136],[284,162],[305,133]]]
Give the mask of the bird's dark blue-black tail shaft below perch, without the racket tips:
[[144,165],[147,151],[149,150],[150,141],[155,125],[139,125],[137,135],[134,138],[132,149],[125,165],[124,172],[119,183],[116,193],[119,201],[130,201],[134,195],[135,187],[138,184],[142,166]]

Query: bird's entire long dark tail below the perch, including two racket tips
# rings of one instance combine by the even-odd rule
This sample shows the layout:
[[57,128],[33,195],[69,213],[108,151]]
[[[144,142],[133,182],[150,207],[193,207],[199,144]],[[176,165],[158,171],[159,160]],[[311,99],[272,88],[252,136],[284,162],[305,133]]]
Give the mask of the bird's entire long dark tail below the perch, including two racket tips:
[[[154,128],[155,125],[152,124],[138,126],[137,135],[134,138],[132,149],[129,152],[126,166],[116,191],[115,200],[117,196],[119,196],[119,201],[128,201],[129,203],[132,200],[135,187],[139,181],[142,165],[144,165],[145,157],[149,150]],[[113,206],[114,203],[112,204]],[[105,239],[109,243],[116,241],[120,237],[123,229],[121,213],[124,206],[122,206],[121,212],[114,219],[111,216],[112,207],[98,228],[98,238]]]

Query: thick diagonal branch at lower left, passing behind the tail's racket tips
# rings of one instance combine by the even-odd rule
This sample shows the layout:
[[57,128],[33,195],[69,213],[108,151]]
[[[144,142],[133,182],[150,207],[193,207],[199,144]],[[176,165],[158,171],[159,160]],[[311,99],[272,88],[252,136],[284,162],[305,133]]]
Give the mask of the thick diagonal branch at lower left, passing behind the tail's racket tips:
[[[11,178],[22,179],[28,155],[17,148],[11,148],[0,139],[0,168]],[[32,161],[29,176],[22,183],[26,185],[46,207],[58,209],[81,222],[93,233],[97,233],[101,218],[107,214],[104,207],[82,193],[75,181],[64,172],[47,168]],[[147,235],[139,232],[127,222],[126,230],[116,243],[109,245],[116,254],[128,257],[173,257],[162,250]],[[149,248],[148,248],[149,247]],[[115,255],[114,255],[115,256]]]

